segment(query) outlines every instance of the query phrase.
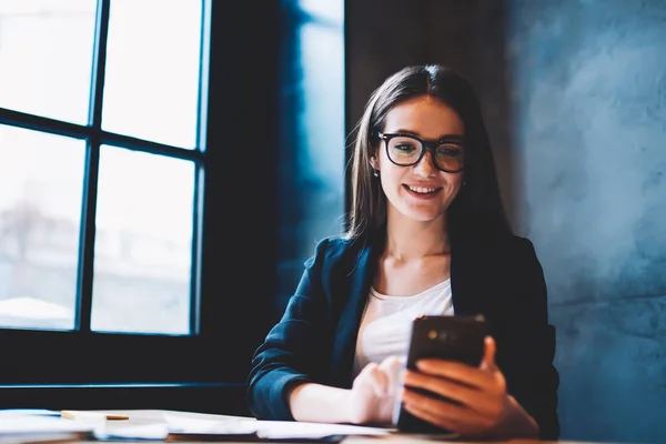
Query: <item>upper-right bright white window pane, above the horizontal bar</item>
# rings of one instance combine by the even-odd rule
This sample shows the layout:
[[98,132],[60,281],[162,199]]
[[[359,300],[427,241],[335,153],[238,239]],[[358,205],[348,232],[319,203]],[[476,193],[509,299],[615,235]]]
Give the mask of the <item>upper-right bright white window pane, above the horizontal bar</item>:
[[201,1],[113,0],[102,127],[194,148]]

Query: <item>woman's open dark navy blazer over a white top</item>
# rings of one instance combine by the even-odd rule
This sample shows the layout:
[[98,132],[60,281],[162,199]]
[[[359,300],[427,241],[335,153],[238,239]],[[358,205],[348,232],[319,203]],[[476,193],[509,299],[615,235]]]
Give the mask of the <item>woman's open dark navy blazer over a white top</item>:
[[[316,245],[282,320],[252,359],[248,405],[258,418],[293,420],[284,394],[297,381],[352,386],[356,335],[382,251],[370,239],[332,236]],[[490,321],[508,393],[536,420],[542,438],[558,438],[555,332],[532,242],[456,241],[451,285],[455,314]]]

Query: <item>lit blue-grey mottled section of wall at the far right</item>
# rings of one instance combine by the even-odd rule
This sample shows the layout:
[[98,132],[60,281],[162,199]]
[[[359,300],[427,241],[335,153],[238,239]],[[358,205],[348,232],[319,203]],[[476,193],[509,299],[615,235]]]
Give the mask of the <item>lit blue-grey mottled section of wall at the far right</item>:
[[563,437],[666,442],[666,2],[508,16],[516,220],[558,329]]

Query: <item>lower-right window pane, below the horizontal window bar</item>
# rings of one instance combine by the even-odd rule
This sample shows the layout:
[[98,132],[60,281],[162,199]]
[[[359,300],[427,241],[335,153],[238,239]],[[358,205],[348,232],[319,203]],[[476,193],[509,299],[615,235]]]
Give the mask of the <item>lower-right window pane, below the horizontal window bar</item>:
[[186,334],[194,164],[102,147],[91,327]]

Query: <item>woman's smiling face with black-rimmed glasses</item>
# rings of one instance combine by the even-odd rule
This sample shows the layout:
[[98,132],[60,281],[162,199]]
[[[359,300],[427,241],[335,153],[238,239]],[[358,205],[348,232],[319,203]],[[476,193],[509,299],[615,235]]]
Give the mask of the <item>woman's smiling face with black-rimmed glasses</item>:
[[389,218],[444,218],[463,184],[465,129],[457,113],[430,95],[410,99],[389,112],[383,131],[385,150],[370,164],[382,179]]

